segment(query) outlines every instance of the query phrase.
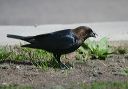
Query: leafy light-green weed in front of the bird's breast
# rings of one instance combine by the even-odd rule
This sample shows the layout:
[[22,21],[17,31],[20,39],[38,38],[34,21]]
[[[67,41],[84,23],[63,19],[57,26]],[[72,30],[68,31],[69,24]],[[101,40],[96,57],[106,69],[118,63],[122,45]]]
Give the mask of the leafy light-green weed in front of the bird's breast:
[[104,37],[98,42],[86,40],[85,43],[79,48],[79,53],[86,55],[85,58],[105,59],[112,52],[108,45],[107,38]]

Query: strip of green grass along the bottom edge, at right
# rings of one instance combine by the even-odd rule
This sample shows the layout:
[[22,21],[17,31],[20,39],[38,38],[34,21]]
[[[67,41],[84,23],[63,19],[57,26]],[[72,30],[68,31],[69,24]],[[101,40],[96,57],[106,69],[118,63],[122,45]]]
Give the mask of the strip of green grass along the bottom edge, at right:
[[[67,88],[63,88],[67,89]],[[80,83],[71,85],[68,89],[128,89],[128,82],[93,82],[91,84]]]

